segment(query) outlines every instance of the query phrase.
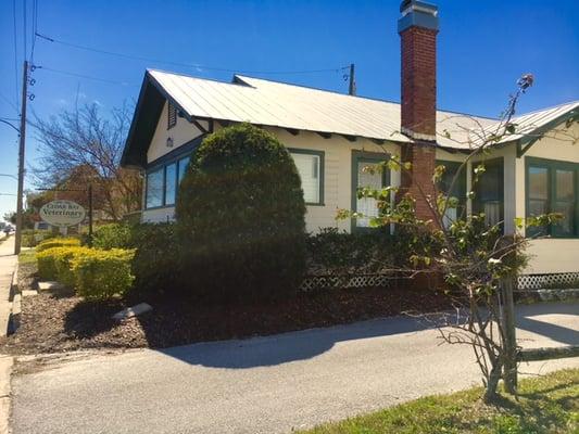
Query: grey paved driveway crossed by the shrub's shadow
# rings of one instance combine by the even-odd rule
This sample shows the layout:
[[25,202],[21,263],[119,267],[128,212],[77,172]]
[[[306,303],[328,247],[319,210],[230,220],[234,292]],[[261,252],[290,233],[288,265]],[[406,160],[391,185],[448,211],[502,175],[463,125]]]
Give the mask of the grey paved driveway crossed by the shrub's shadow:
[[[525,346],[579,344],[579,304],[517,307]],[[479,384],[470,349],[389,318],[247,341],[59,360],[13,379],[13,430],[289,433]],[[533,362],[526,372],[579,367]]]

